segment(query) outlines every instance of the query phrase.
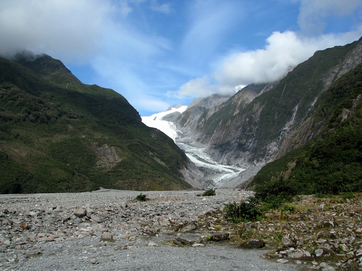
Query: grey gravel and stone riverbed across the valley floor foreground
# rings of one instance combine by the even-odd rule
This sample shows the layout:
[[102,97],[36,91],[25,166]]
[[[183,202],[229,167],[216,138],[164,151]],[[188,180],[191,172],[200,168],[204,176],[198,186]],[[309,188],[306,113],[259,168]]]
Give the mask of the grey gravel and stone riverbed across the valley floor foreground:
[[[240,249],[217,235],[226,203],[251,192],[218,189],[0,195],[1,270],[302,270],[306,265],[263,257],[267,248]],[[189,240],[175,245],[173,240]],[[192,241],[191,241],[192,240]],[[191,245],[192,244],[192,245]]]

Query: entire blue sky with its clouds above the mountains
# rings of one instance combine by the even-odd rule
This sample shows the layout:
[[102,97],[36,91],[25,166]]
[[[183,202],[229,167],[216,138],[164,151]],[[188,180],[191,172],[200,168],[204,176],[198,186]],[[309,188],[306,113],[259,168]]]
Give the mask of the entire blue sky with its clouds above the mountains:
[[278,80],[361,36],[361,0],[0,0],[0,56],[46,53],[141,116]]

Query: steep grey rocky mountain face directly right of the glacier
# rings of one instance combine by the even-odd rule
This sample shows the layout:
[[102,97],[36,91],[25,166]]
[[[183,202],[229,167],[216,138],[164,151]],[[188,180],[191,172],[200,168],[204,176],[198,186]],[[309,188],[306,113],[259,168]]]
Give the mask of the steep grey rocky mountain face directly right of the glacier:
[[[278,82],[249,85],[229,99],[197,100],[175,120],[184,133],[179,141],[201,145],[215,161],[255,173],[319,134],[325,121],[314,114],[320,96],[361,62],[359,40],[317,51]],[[240,179],[249,176],[246,171]]]

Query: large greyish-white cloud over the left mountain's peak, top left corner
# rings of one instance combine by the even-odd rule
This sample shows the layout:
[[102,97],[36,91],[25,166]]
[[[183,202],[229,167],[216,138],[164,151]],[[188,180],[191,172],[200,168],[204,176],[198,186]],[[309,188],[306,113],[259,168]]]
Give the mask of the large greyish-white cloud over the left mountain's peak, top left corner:
[[27,49],[83,60],[99,48],[111,15],[112,6],[103,1],[1,1],[0,54]]

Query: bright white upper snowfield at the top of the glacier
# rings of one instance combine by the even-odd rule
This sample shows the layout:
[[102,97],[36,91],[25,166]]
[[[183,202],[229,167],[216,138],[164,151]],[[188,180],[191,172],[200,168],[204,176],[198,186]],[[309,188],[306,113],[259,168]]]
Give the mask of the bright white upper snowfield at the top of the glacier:
[[177,105],[177,106],[169,108],[165,112],[160,112],[160,113],[153,114],[152,116],[141,117],[141,118],[142,118],[142,122],[144,124],[146,124],[149,127],[159,129],[160,131],[164,132],[166,135],[171,137],[173,139],[173,141],[176,142],[176,138],[178,137],[178,134],[179,134],[176,126],[170,121],[162,120],[162,118],[169,114],[175,113],[175,112],[179,112],[181,114],[186,109],[187,109],[187,106]]

